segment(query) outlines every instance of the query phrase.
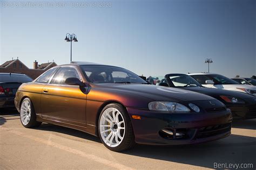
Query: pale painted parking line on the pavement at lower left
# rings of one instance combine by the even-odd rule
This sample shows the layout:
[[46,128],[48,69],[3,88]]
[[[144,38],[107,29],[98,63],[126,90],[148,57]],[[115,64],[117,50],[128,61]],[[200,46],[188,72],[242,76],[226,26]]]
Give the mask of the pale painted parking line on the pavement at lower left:
[[28,139],[35,140],[37,142],[41,142],[45,145],[49,145],[49,146],[56,147],[58,149],[62,149],[66,152],[70,152],[70,153],[73,153],[73,154],[80,155],[81,157],[96,161],[96,162],[98,162],[100,164],[104,164],[106,166],[110,166],[110,167],[117,168],[117,169],[133,169],[131,167],[127,167],[125,165],[118,164],[116,162],[113,162],[113,161],[110,161],[110,160],[107,160],[107,159],[104,159],[104,158],[100,158],[100,157],[97,157],[95,155],[92,155],[92,154],[89,154],[89,153],[86,153],[86,152],[82,152],[82,151],[79,151],[77,149],[74,149],[74,148],[71,148],[71,147],[68,147],[68,146],[57,144],[56,142],[52,142],[52,141],[45,140],[45,139],[42,139],[42,138],[33,137],[32,135],[28,135],[28,134],[25,134],[25,133],[22,133],[22,132],[11,130],[11,129],[3,127],[3,126],[0,126],[0,129],[8,131],[10,133],[14,133],[14,134],[19,135],[21,137],[25,137],[25,138],[28,138]]

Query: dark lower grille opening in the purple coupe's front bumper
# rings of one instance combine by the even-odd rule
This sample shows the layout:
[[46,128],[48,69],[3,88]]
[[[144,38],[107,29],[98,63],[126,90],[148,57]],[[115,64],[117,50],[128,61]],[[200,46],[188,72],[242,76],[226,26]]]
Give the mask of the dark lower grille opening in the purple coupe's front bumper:
[[198,131],[197,138],[213,137],[231,131],[231,123],[224,125],[201,127]]

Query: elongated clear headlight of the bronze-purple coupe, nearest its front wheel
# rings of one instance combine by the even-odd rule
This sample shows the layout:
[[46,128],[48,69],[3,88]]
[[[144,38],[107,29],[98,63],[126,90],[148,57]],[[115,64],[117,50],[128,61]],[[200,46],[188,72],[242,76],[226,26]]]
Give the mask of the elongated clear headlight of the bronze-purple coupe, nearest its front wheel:
[[172,101],[152,101],[149,103],[149,110],[175,113],[190,112],[190,109],[186,106]]

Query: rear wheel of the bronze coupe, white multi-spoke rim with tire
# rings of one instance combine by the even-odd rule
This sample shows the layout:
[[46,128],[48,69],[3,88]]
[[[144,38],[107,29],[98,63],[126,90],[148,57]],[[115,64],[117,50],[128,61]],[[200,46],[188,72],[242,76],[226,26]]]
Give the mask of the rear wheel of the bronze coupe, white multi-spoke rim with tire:
[[21,104],[21,123],[24,127],[37,127],[40,126],[42,123],[36,121],[36,113],[33,109],[33,105],[29,98],[25,98]]

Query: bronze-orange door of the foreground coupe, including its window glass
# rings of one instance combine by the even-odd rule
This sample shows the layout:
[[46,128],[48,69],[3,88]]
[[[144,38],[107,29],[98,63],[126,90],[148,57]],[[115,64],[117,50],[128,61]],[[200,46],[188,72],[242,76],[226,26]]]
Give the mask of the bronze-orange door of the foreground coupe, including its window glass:
[[66,85],[65,80],[76,77],[82,80],[73,66],[62,66],[45,85],[41,97],[41,112],[44,119],[86,126],[86,94],[78,85]]

